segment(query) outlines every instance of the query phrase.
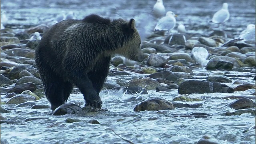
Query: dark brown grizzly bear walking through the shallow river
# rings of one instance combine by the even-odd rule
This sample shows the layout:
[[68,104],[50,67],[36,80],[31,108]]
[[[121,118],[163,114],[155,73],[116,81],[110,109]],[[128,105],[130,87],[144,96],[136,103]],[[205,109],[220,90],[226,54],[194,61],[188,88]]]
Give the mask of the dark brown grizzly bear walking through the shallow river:
[[108,76],[111,56],[119,54],[142,62],[140,42],[134,19],[110,20],[91,14],[83,20],[53,25],[35,54],[51,109],[68,100],[74,85],[84,95],[85,106],[101,108],[99,92]]

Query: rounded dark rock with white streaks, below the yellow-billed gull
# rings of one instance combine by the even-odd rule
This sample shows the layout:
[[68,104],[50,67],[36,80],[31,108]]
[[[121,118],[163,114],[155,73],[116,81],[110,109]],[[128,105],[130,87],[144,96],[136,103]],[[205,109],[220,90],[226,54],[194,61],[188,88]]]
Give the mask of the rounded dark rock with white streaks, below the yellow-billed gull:
[[[187,37],[190,38],[190,36],[187,35]],[[188,39],[189,39],[188,38]],[[164,40],[164,44],[169,44],[169,45],[185,45],[186,42],[186,37],[184,34],[171,34],[170,36],[167,36],[166,39]]]

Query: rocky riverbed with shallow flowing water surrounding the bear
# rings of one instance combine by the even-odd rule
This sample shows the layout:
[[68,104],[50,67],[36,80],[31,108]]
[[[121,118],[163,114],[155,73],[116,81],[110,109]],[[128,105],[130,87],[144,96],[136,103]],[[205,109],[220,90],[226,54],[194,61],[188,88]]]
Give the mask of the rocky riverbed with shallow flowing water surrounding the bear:
[[[179,15],[177,21],[184,22],[188,32],[177,33],[176,26],[161,35],[152,29],[156,23],[150,16],[153,0],[90,4],[66,0],[49,6],[49,2],[25,0],[17,5],[12,1],[1,1],[11,19],[0,38],[1,144],[255,142],[255,40],[236,40],[248,24],[255,23],[255,2],[230,1],[230,20],[219,28],[209,20],[222,2],[164,2]],[[30,5],[35,8],[28,9]],[[137,22],[145,60],[138,63],[112,57],[100,93],[103,111],[84,109],[77,88],[68,104],[55,112],[45,98],[34,62],[40,40],[30,37],[34,32],[43,36],[50,25],[40,25],[42,20],[61,10],[73,10],[78,18],[97,13]],[[206,66],[191,55],[194,47],[209,53]]]

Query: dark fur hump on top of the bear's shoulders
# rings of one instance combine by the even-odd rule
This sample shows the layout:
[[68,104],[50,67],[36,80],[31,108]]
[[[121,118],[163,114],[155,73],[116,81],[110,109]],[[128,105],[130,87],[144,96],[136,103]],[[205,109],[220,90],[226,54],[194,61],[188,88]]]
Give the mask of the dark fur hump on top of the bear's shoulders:
[[98,23],[98,24],[110,24],[111,21],[108,18],[102,18],[101,16],[97,14],[90,14],[86,16],[83,20],[83,22],[86,23]]

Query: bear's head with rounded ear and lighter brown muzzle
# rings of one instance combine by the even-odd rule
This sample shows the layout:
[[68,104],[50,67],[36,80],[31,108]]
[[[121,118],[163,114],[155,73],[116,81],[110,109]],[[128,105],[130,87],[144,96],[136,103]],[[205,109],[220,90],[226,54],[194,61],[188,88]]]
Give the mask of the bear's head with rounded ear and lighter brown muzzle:
[[138,33],[135,27],[135,20],[130,19],[128,22],[123,21],[122,24],[122,44],[121,48],[118,50],[118,54],[138,62],[142,62],[144,60],[143,52],[140,48],[140,34]]

